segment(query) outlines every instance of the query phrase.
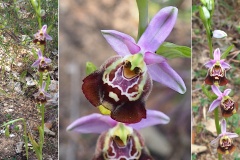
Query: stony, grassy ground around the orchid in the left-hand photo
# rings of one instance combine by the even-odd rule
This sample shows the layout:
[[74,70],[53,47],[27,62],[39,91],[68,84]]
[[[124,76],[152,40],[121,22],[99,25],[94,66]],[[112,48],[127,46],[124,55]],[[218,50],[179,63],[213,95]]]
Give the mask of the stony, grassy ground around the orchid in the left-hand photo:
[[[48,7],[45,3],[42,5],[46,11],[43,22],[46,22],[48,7],[56,4],[49,3]],[[51,8],[51,12],[55,12],[51,16],[57,16],[56,11],[57,7]],[[41,115],[33,96],[39,88],[39,75],[37,69],[31,67],[36,60],[33,52],[36,52],[38,46],[34,45],[32,40],[38,25],[30,2],[1,2],[0,12],[0,159],[24,160],[26,155],[21,145],[24,141],[24,124],[16,122],[10,125],[9,137],[5,136],[6,127],[1,126],[11,120],[24,118],[27,133],[32,134],[37,142],[39,140],[37,128],[41,125]],[[51,131],[45,132],[43,159],[46,160],[58,159],[58,38],[57,21],[55,22],[49,33],[53,41],[48,43],[45,55],[52,59],[51,84],[48,90],[51,99],[46,104],[44,118]],[[28,145],[29,159],[37,159],[31,143]]]

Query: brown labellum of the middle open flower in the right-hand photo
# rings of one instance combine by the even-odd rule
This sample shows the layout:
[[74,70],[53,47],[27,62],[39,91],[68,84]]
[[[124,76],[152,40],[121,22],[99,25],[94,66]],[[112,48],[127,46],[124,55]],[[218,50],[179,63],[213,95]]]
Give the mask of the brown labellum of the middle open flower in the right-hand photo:
[[220,107],[223,117],[230,117],[238,110],[238,104],[230,98],[227,98],[226,100],[221,102]]

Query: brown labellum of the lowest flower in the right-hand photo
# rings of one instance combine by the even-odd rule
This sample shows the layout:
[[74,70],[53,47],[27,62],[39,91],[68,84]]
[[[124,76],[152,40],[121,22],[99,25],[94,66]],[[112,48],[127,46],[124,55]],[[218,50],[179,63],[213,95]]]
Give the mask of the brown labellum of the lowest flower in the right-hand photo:
[[233,141],[228,136],[223,136],[219,139],[218,153],[230,154],[234,152],[236,147],[233,145]]

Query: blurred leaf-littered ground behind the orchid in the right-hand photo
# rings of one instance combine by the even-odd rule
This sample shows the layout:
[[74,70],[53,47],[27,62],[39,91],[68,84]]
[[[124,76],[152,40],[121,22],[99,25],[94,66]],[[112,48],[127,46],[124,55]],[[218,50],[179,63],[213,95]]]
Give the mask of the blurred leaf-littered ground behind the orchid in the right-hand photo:
[[[210,142],[217,137],[214,113],[208,113],[211,102],[203,94],[201,86],[207,75],[204,64],[210,60],[206,31],[199,18],[198,6],[200,1],[193,0],[192,7],[192,159],[195,160],[215,160],[217,159],[217,148],[210,145]],[[219,48],[223,53],[230,45],[233,49],[226,58],[226,62],[231,65],[227,71],[229,83],[220,87],[221,91],[232,89],[230,97],[235,102],[239,102],[240,97],[240,1],[215,0],[215,11],[213,15],[212,29],[220,29],[227,33],[223,39],[213,38],[213,49]],[[208,88],[209,90],[210,87]],[[219,109],[219,119],[222,115]],[[240,134],[240,110],[228,118],[228,132]],[[234,138],[234,145],[237,147],[235,153],[224,155],[225,160],[240,159],[239,148],[240,138]]]

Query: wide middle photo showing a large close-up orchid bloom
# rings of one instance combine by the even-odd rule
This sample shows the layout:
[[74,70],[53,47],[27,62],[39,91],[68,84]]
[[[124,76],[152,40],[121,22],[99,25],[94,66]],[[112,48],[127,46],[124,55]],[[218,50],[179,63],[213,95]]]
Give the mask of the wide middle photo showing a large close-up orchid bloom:
[[60,1],[59,159],[191,159],[191,5]]

